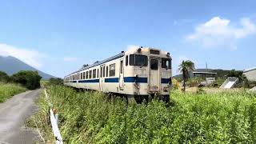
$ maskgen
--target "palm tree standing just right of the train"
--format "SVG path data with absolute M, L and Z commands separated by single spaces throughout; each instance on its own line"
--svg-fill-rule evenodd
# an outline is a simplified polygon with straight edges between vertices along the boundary
M 183 78 L 183 90 L 186 91 L 186 80 L 189 78 L 189 72 L 194 70 L 194 62 L 190 60 L 182 61 L 182 63 L 178 66 L 178 70 L 182 72 Z

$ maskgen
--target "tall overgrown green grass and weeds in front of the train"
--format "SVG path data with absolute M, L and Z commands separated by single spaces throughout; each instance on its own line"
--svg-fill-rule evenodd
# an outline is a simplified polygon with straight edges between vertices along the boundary
M 246 90 L 182 94 L 173 91 L 173 106 L 153 100 L 147 106 L 98 92 L 78 93 L 48 87 L 58 109 L 66 143 L 253 143 L 256 142 L 256 94 Z M 42 96 L 34 116 L 42 135 L 54 142 Z M 31 121 L 32 122 L 32 121 Z

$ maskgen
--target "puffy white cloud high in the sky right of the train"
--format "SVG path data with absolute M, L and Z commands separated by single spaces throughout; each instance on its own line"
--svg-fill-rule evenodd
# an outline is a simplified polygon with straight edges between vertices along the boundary
M 194 34 L 186 36 L 190 42 L 199 42 L 203 47 L 224 46 L 236 49 L 235 42 L 240 38 L 246 38 L 256 34 L 256 25 L 250 18 L 241 18 L 241 26 L 231 26 L 230 20 L 214 17 L 210 21 L 198 25 Z

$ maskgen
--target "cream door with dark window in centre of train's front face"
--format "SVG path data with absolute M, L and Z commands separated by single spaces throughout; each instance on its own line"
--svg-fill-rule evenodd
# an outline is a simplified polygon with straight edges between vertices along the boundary
M 150 58 L 150 91 L 158 92 L 160 90 L 159 84 L 159 59 Z

